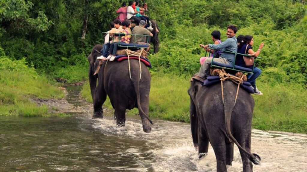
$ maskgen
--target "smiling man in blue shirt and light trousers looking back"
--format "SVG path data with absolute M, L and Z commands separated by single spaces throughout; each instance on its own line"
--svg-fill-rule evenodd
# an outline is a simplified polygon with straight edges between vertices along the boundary
M 200 45 L 200 47 L 211 47 L 216 50 L 226 50 L 236 53 L 238 50 L 238 41 L 235 38 L 235 34 L 237 33 L 237 27 L 234 25 L 227 26 L 227 39 L 220 43 L 220 44 L 208 44 L 208 45 Z M 204 63 L 201 65 L 198 75 L 193 77 L 194 80 L 204 81 L 205 76 L 210 75 L 210 64 L 212 62 L 212 57 L 207 58 Z M 227 53 L 227 52 L 221 52 L 219 58 L 214 58 L 214 62 L 227 64 L 227 65 L 233 65 L 235 62 L 235 54 Z

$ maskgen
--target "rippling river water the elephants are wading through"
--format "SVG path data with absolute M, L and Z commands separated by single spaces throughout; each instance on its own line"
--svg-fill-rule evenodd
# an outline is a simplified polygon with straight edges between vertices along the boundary
M 78 100 L 79 88 L 68 88 L 68 102 Z M 86 109 L 86 108 L 84 108 Z M 0 171 L 216 171 L 210 147 L 199 160 L 189 124 L 153 120 L 151 133 L 142 131 L 139 117 L 116 127 L 111 114 L 91 119 L 91 110 L 70 117 L 0 117 Z M 307 136 L 252 130 L 252 152 L 262 158 L 256 172 L 306 172 Z M 228 171 L 242 171 L 235 146 Z

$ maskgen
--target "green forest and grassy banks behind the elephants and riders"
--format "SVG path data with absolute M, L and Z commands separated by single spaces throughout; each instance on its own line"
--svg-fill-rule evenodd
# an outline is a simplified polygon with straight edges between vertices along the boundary
M 87 80 L 87 55 L 121 0 L 0 0 L 0 115 L 48 116 L 29 98 L 63 98 L 55 78 Z M 305 0 L 146 0 L 160 28 L 153 68 L 150 117 L 189 122 L 189 78 L 204 56 L 200 43 L 211 32 L 226 39 L 228 24 L 238 35 L 261 42 L 253 127 L 307 133 L 307 15 Z M 91 102 L 89 84 L 82 95 Z M 111 107 L 110 103 L 105 103 Z M 129 111 L 128 114 L 137 114 Z

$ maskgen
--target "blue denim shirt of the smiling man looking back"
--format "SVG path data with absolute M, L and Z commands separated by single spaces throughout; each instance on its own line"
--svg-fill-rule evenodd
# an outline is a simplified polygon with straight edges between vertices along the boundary
M 231 37 L 226 39 L 220 44 L 209 44 L 209 47 L 214 48 L 216 50 L 226 50 L 236 53 L 238 50 L 238 41 L 237 38 Z M 232 65 L 235 62 L 235 54 L 227 53 L 227 52 L 221 52 L 220 56 L 222 58 L 226 58 L 227 61 Z

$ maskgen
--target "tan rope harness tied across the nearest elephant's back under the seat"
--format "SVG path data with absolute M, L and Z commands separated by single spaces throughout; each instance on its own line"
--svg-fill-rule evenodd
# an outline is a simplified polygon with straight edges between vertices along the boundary
M 224 88 L 223 88 L 223 82 L 225 80 L 231 80 L 232 82 L 238 84 L 238 87 L 237 87 L 237 93 L 235 95 L 235 103 L 237 102 L 237 98 L 238 98 L 238 94 L 239 94 L 239 88 L 240 88 L 240 84 L 243 84 L 243 77 L 245 75 L 243 75 L 242 73 L 242 76 L 241 78 L 240 77 L 236 77 L 234 75 L 231 75 L 229 73 L 226 73 L 224 69 L 213 69 L 210 71 L 211 75 L 212 76 L 215 76 L 218 74 L 218 76 L 220 77 L 220 80 L 221 80 L 221 88 L 222 88 L 222 100 L 223 100 L 223 104 L 224 104 Z M 241 74 L 239 74 L 241 75 Z

